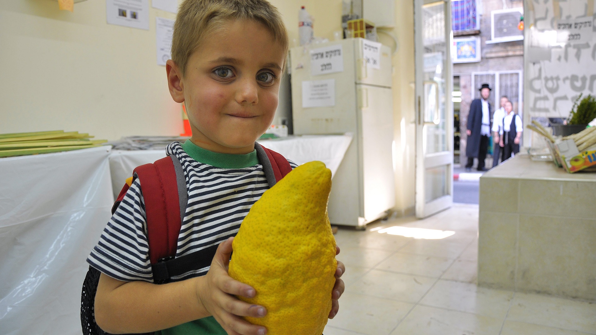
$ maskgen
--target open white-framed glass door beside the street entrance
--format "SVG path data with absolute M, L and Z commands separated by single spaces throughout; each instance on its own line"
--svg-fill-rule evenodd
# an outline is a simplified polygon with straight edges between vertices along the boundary
M 453 202 L 451 1 L 414 0 L 416 216 Z

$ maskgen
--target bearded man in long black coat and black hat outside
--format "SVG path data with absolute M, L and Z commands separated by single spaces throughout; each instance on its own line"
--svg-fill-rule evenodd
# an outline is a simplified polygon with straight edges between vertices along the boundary
M 491 86 L 483 83 L 480 88 L 480 99 L 474 99 L 470 105 L 468 114 L 467 131 L 468 141 L 465 148 L 465 155 L 468 156 L 468 163 L 465 170 L 470 171 L 474 165 L 474 158 L 478 159 L 477 169 L 486 171 L 485 159 L 488 151 L 488 141 L 491 136 L 491 104 L 488 97 L 491 95 Z

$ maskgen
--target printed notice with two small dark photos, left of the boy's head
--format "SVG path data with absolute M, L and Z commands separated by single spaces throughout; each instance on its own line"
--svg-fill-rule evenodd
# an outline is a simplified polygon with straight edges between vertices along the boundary
M 106 0 L 109 24 L 149 30 L 149 0 Z

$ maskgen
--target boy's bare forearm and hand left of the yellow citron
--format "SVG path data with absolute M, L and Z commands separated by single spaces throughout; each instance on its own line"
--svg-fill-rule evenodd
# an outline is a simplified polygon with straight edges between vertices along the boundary
M 256 294 L 249 285 L 228 276 L 232 240 L 219 245 L 209 272 L 202 277 L 156 285 L 101 274 L 95 295 L 95 321 L 112 334 L 148 333 L 213 315 L 228 334 L 265 334 L 265 327 L 241 318 L 263 317 L 265 308 L 232 296 Z

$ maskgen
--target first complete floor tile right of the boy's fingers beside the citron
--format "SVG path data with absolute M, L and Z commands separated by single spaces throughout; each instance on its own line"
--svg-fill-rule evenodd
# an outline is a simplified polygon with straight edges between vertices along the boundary
M 436 278 L 371 270 L 346 291 L 417 303 Z

